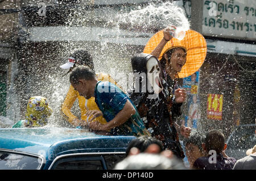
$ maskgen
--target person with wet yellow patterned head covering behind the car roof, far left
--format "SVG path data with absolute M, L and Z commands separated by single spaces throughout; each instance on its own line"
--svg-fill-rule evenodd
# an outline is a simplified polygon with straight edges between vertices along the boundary
M 52 114 L 52 109 L 48 101 L 43 96 L 32 96 L 28 100 L 26 119 L 20 120 L 13 125 L 13 128 L 23 127 L 43 127 L 48 123 L 48 118 Z

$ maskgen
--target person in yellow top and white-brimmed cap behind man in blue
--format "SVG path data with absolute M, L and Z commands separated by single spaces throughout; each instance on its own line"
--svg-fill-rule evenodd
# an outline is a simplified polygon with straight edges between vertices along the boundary
M 60 68 L 68 69 L 68 73 L 70 73 L 77 65 L 88 66 L 94 71 L 93 58 L 87 50 L 79 49 L 71 53 L 68 57 L 68 62 L 61 65 Z M 98 73 L 96 74 L 96 77 L 98 81 L 109 81 L 117 85 L 117 82 L 115 82 L 108 74 Z M 76 99 L 78 99 L 79 102 L 81 119 L 73 115 L 71 112 L 71 108 Z M 85 99 L 84 96 L 79 95 L 79 92 L 77 92 L 72 85 L 69 87 L 68 93 L 63 104 L 61 105 L 61 113 L 63 113 L 65 119 L 67 119 L 69 123 L 75 127 L 79 127 L 85 122 L 87 123 L 90 119 L 93 119 L 93 121 L 98 121 L 101 124 L 105 124 L 106 120 L 103 116 L 95 117 L 99 111 L 100 109 L 98 108 L 94 97 Z

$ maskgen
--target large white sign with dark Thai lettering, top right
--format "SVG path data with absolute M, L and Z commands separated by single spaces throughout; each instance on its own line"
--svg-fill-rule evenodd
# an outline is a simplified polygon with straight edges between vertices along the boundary
M 203 35 L 256 40 L 256 1 L 204 0 Z

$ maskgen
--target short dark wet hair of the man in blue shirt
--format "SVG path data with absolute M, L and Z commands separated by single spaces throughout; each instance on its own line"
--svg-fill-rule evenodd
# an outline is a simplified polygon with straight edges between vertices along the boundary
M 96 78 L 96 74 L 92 69 L 88 68 L 88 66 L 79 65 L 72 70 L 69 76 L 69 81 L 77 85 L 79 79 L 92 80 L 94 78 Z

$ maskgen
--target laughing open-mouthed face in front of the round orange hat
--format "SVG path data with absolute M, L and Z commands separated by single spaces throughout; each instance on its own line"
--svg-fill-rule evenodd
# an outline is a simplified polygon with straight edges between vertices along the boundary
M 167 57 L 167 54 L 164 55 L 169 62 L 171 70 L 175 73 L 180 72 L 186 62 L 187 53 L 183 49 L 177 48 L 172 53 L 171 57 Z

